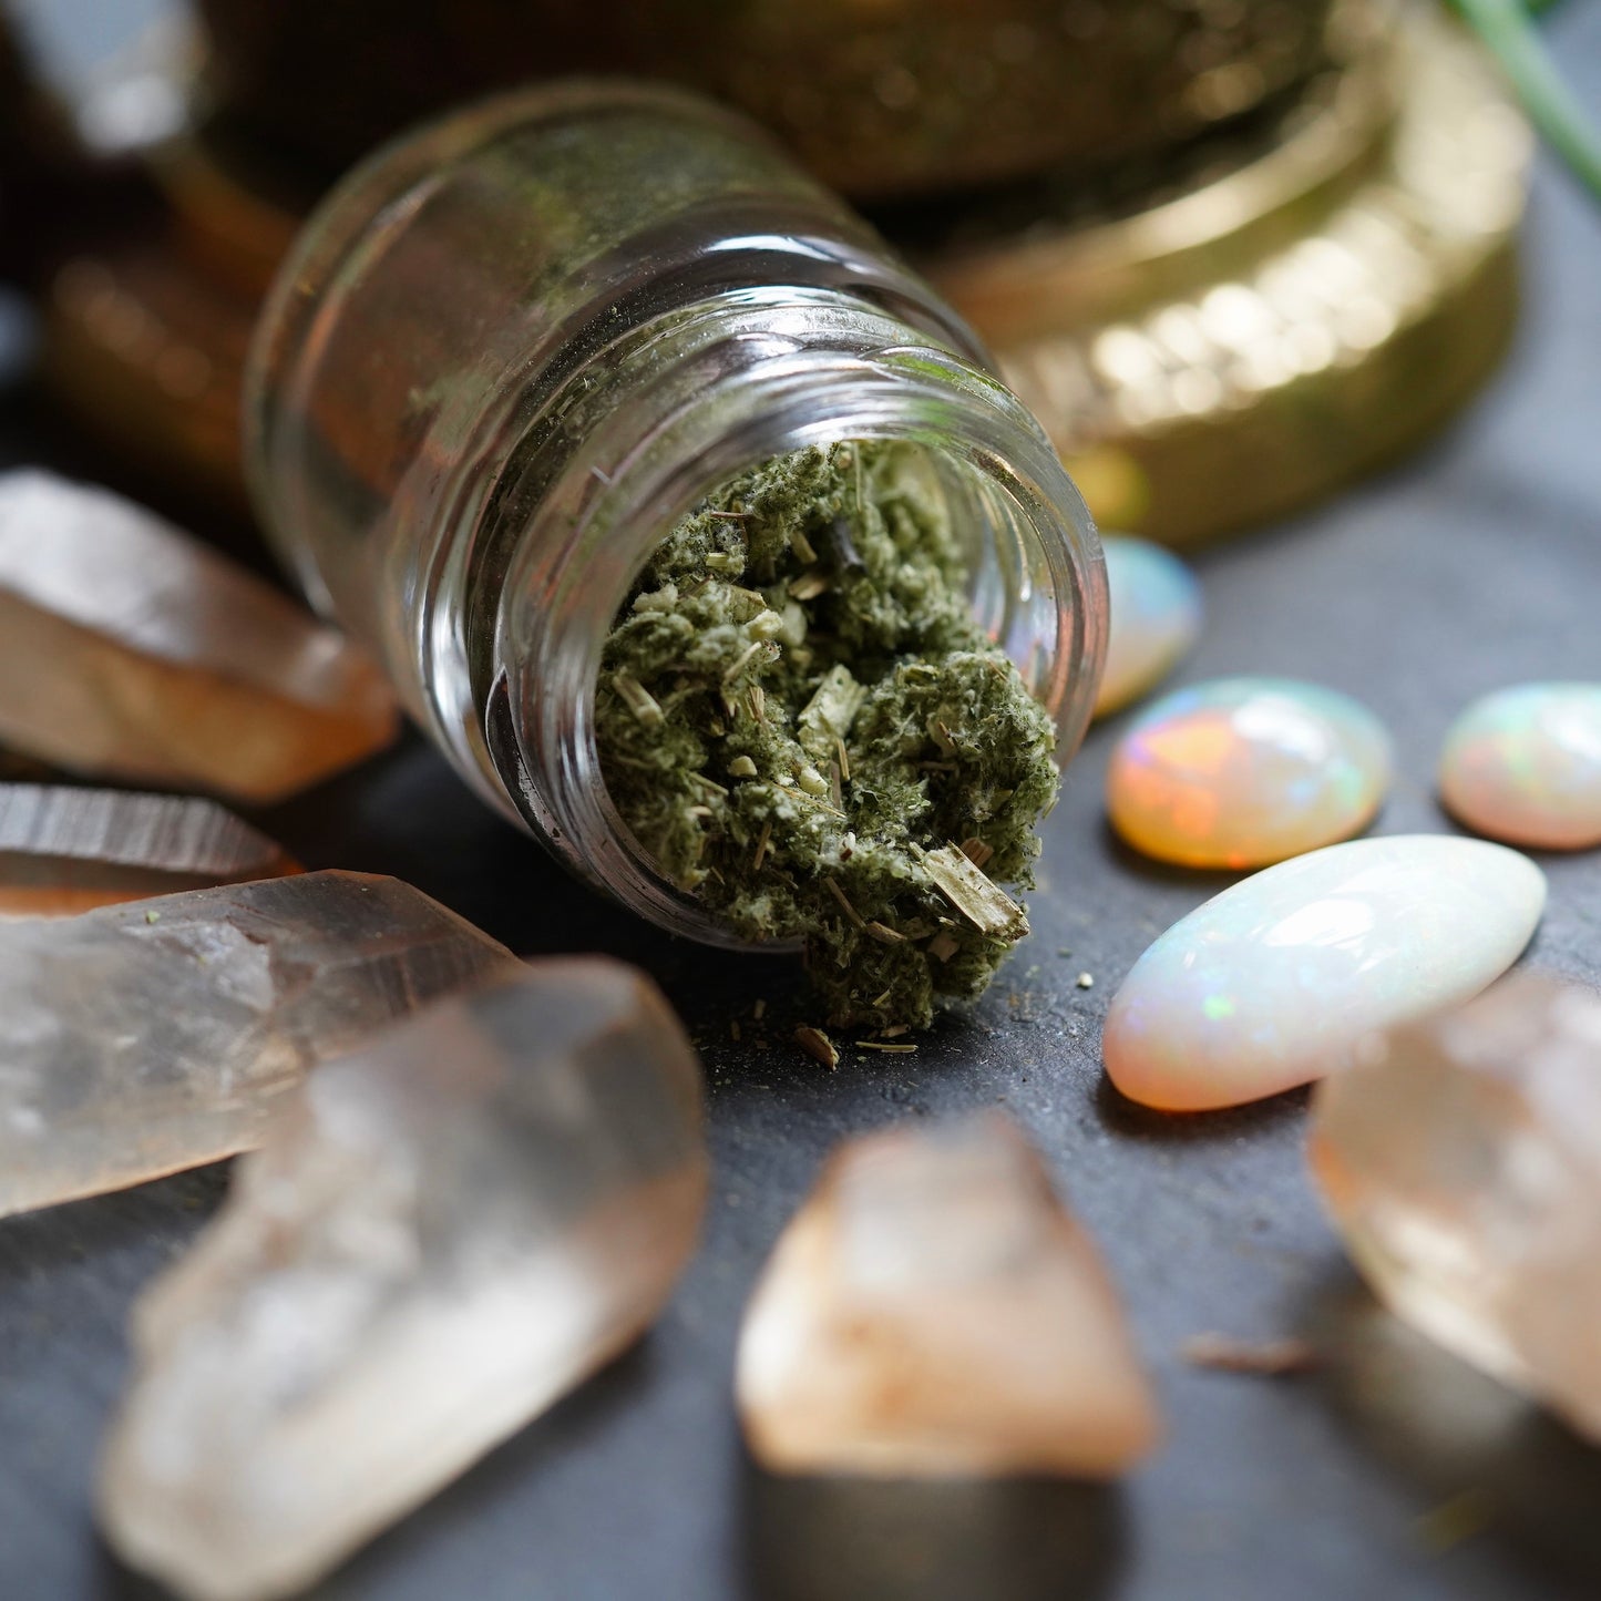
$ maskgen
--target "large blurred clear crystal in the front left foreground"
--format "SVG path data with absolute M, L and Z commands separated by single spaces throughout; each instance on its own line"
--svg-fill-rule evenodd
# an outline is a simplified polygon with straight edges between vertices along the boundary
M 202 1601 L 299 1590 L 658 1314 L 708 1158 L 618 962 L 538 962 L 330 1063 L 139 1302 L 102 1524 Z

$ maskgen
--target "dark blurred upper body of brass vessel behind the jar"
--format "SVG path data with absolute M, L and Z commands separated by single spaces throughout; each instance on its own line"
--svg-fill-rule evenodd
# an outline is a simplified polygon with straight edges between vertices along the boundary
M 331 175 L 485 90 L 664 77 L 857 199 L 1100 170 L 1321 64 L 1330 0 L 200 0 L 219 104 Z

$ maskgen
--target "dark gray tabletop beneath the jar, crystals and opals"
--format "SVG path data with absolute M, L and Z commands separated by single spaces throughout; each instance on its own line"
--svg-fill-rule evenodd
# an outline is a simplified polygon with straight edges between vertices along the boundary
M 1569 61 L 1601 101 L 1601 8 Z M 1601 677 L 1601 221 L 1540 186 L 1510 368 L 1425 456 L 1201 562 L 1209 629 L 1183 679 L 1279 672 L 1358 695 L 1396 738 L 1382 833 L 1443 831 L 1441 735 L 1483 690 Z M 34 402 L 0 459 L 59 453 Z M 1302 1170 L 1305 1097 L 1182 1121 L 1101 1081 L 1098 1029 L 1150 940 L 1223 877 L 1121 852 L 1100 786 L 1117 725 L 1049 825 L 1036 935 L 972 1025 L 823 1073 L 788 1045 L 784 964 L 671 943 L 567 884 L 407 746 L 263 825 L 317 866 L 397 873 L 520 951 L 604 949 L 658 975 L 711 1074 L 704 1249 L 634 1353 L 379 1540 L 341 1601 L 1511 1601 L 1601 1595 L 1601 1455 L 1425 1348 L 1353 1284 Z M 1601 853 L 1543 858 L 1535 965 L 1601 980 Z M 1058 954 L 1071 949 L 1071 956 Z M 1074 988 L 1081 970 L 1095 988 Z M 770 1007 L 770 1044 L 749 1009 Z M 728 1041 L 728 1018 L 746 1039 Z M 730 1402 L 740 1310 L 825 1151 L 893 1117 L 1002 1103 L 1050 1154 L 1124 1286 L 1167 1444 L 1111 1491 L 778 1484 Z M 226 1174 L 0 1223 L 0 1601 L 149 1596 L 93 1532 L 96 1438 L 131 1298 L 194 1238 Z M 1188 1367 L 1201 1330 L 1314 1329 L 1302 1378 Z

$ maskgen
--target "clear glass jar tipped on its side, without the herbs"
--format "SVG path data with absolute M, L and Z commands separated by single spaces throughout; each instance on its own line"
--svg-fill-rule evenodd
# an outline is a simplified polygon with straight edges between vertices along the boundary
M 956 314 L 709 102 L 564 83 L 387 146 L 301 235 L 247 379 L 256 504 L 314 604 L 482 796 L 725 945 L 607 796 L 600 650 L 698 500 L 853 439 L 927 451 L 975 615 L 1066 759 L 1106 631 L 1082 500 Z

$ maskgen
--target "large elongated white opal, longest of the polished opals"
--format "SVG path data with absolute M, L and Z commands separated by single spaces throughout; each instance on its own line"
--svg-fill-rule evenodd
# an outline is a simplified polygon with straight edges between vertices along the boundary
M 1359 839 L 1282 861 L 1134 964 L 1106 1015 L 1106 1073 L 1164 1111 L 1306 1084 L 1377 1029 L 1478 994 L 1543 909 L 1545 874 L 1479 839 Z

